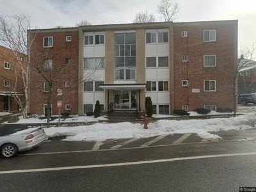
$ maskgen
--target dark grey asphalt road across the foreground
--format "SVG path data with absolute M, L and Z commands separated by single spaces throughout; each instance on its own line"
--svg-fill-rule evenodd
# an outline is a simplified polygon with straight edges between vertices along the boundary
M 58 152 L 0 159 L 1 191 L 239 191 L 256 185 L 255 141 L 97 151 L 69 143 Z

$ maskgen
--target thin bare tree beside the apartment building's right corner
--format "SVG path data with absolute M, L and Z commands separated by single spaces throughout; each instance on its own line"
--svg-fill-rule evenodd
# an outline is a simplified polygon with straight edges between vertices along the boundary
M 252 49 L 246 48 L 242 51 L 241 57 L 238 59 L 237 67 L 235 68 L 234 76 L 233 76 L 233 100 L 234 100 L 234 117 L 236 116 L 236 107 L 237 107 L 237 77 L 239 76 L 239 72 L 245 68 L 248 63 L 252 60 L 255 60 L 255 51 L 256 47 L 254 44 L 252 45 Z

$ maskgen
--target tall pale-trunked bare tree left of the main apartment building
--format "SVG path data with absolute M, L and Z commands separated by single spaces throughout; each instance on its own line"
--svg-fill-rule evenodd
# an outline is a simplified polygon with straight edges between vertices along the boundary
M 25 15 L 15 15 L 15 16 L 0 16 L 0 42 L 9 49 L 12 50 L 17 63 L 19 65 L 19 75 L 22 79 L 23 86 L 23 97 L 17 93 L 17 81 L 16 78 L 15 85 L 12 86 L 12 92 L 10 94 L 17 101 L 22 111 L 22 116 L 28 118 L 28 106 L 29 106 L 29 65 L 31 59 L 27 56 L 31 44 L 34 39 L 31 39 L 29 44 L 27 41 L 27 31 L 30 29 L 30 19 Z M 17 70 L 15 70 L 17 73 Z M 16 76 L 17 77 L 17 76 Z

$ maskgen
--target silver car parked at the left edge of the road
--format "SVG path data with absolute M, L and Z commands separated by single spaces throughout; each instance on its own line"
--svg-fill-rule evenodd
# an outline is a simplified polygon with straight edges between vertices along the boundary
M 28 128 L 26 125 L 0 125 L 0 154 L 13 157 L 18 152 L 40 145 L 47 136 L 42 128 Z

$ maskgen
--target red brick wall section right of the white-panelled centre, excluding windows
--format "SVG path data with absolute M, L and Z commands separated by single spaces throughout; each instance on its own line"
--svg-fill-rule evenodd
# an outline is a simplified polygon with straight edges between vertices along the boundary
M 204 42 L 204 30 L 216 29 L 216 42 Z M 188 104 L 189 111 L 204 108 L 233 108 L 232 79 L 234 74 L 235 31 L 233 24 L 214 26 L 175 26 L 174 41 L 174 108 Z M 188 31 L 182 38 L 181 31 Z M 204 55 L 216 54 L 216 67 L 204 67 Z M 181 56 L 187 55 L 188 62 L 182 63 Z M 188 87 L 182 87 L 182 79 Z M 216 92 L 204 92 L 204 80 L 216 80 Z M 200 93 L 192 93 L 192 89 Z

